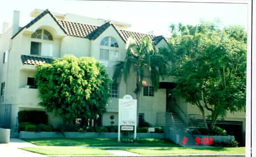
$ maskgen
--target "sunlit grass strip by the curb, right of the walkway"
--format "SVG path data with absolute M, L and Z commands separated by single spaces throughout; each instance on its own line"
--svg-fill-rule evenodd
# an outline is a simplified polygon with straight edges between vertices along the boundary
M 141 155 L 163 155 L 163 154 L 245 154 L 245 147 L 216 147 L 216 148 L 127 148 L 126 151 Z

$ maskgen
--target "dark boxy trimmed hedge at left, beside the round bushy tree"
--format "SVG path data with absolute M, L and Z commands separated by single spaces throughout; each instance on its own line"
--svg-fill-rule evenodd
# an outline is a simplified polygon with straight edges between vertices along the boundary
M 19 111 L 18 121 L 19 123 L 30 122 L 32 124 L 47 124 L 48 116 L 45 111 Z

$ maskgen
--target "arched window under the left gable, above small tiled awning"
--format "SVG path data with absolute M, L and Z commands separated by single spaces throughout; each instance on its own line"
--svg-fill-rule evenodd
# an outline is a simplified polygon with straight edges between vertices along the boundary
M 31 35 L 30 54 L 52 57 L 52 34 L 38 29 Z

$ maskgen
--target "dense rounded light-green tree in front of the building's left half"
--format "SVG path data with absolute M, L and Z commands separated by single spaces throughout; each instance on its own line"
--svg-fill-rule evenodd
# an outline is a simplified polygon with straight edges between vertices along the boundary
M 39 105 L 68 123 L 76 118 L 94 119 L 106 111 L 111 79 L 93 58 L 69 55 L 38 65 L 35 79 L 42 99 Z

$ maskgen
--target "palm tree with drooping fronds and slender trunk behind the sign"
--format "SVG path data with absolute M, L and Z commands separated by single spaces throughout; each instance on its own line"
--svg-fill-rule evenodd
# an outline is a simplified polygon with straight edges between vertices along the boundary
M 131 68 L 133 68 L 136 73 L 136 89 L 134 92 L 137 99 L 138 122 L 139 98 L 144 75 L 150 75 L 154 90 L 157 91 L 160 77 L 164 78 L 167 74 L 168 63 L 153 45 L 152 40 L 147 36 L 143 37 L 139 44 L 136 44 L 135 37 L 129 38 L 126 49 L 125 61 L 119 61 L 119 63 L 115 65 L 113 80 L 114 82 L 120 82 L 121 78 L 124 77 L 126 81 Z

